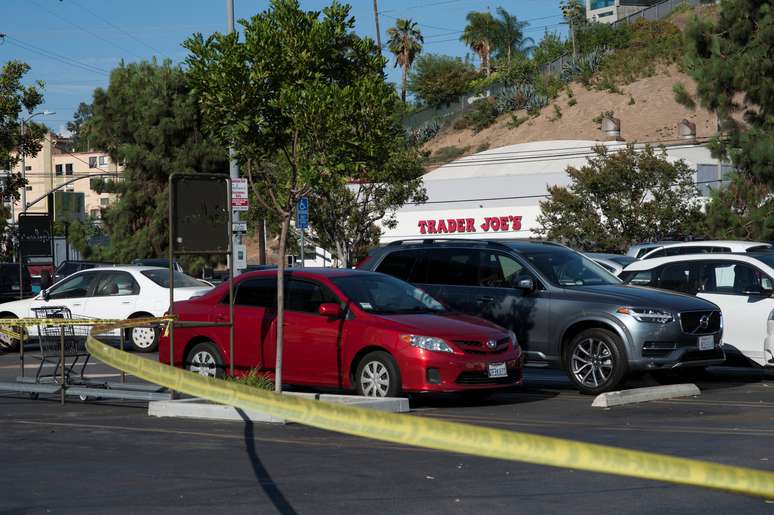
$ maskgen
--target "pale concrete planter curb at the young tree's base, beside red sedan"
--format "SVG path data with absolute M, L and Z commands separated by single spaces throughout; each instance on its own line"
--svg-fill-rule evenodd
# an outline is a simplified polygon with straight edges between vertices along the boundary
M 368 408 L 390 413 L 406 413 L 410 411 L 409 401 L 403 397 L 361 397 L 358 395 L 333 395 L 286 392 L 285 395 L 303 397 L 310 400 L 346 404 L 358 408 Z M 152 417 L 196 418 L 204 420 L 232 420 L 264 422 L 270 424 L 285 424 L 286 420 L 272 417 L 266 413 L 253 410 L 241 410 L 233 406 L 214 404 L 203 399 L 176 399 L 171 401 L 153 401 L 148 403 L 148 415 Z

